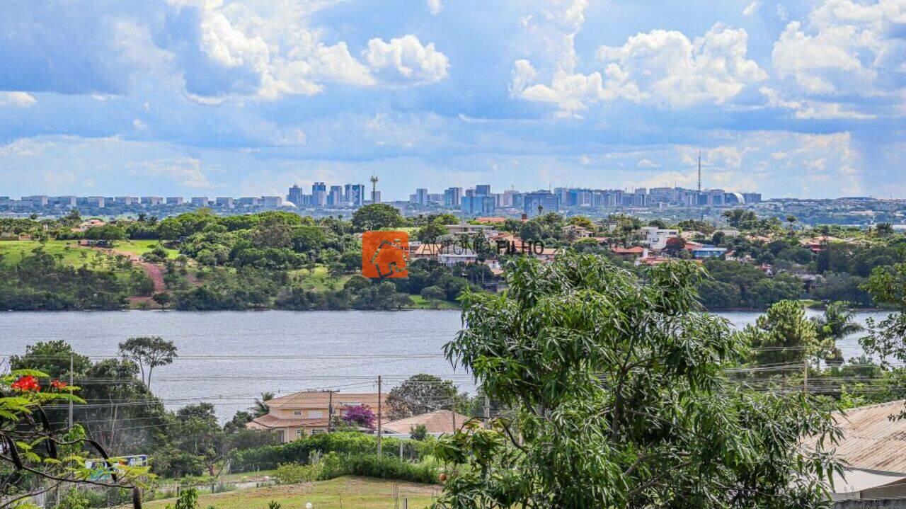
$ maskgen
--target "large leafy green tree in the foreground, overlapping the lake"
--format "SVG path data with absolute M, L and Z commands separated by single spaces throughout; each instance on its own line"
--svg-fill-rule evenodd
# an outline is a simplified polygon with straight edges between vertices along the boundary
M 825 504 L 839 437 L 807 394 L 742 393 L 744 343 L 700 313 L 701 269 L 647 282 L 594 255 L 516 260 L 506 294 L 466 293 L 445 351 L 512 419 L 441 437 L 440 507 L 805 508 Z M 835 433 L 835 434 L 834 434 Z M 826 435 L 824 435 L 826 434 Z M 800 437 L 818 436 L 800 447 Z

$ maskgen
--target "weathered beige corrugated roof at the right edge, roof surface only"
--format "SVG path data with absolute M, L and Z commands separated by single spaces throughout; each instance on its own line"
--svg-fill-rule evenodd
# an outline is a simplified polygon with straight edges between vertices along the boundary
M 844 433 L 836 456 L 853 468 L 906 475 L 906 419 L 891 419 L 903 404 L 898 399 L 835 414 Z

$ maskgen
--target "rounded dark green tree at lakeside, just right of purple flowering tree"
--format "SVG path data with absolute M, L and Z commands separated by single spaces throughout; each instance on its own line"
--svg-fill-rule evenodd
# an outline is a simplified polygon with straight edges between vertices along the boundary
M 460 399 L 453 382 L 419 373 L 390 389 L 387 407 L 391 419 L 408 418 L 435 410 L 451 410 Z

